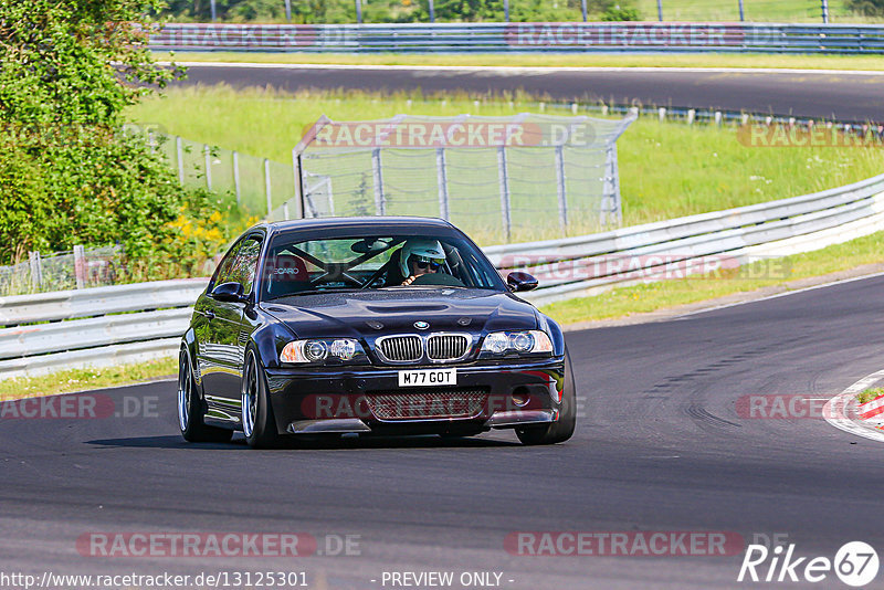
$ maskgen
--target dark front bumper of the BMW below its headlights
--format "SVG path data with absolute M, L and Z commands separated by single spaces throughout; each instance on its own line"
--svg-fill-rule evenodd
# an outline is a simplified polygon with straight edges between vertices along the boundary
M 400 369 L 428 368 L 456 368 L 456 386 L 399 387 Z M 436 367 L 283 368 L 266 373 L 280 433 L 470 432 L 558 420 L 565 361 L 559 357 Z M 383 412 L 379 400 L 387 404 Z M 408 400 L 407 409 L 397 413 L 399 400 Z

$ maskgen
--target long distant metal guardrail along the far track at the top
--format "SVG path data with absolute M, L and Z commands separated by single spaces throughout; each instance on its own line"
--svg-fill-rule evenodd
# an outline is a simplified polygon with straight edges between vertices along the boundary
M 149 34 L 156 51 L 882 53 L 884 25 L 702 22 L 182 24 Z

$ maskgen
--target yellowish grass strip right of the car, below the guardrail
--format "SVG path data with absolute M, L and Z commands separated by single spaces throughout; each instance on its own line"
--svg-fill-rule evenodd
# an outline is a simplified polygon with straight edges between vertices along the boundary
M 846 271 L 884 261 L 884 232 L 807 252 L 755 263 L 738 270 L 696 277 L 661 281 L 615 288 L 594 297 L 558 302 L 540 308 L 560 324 L 628 317 L 697 303 L 735 293 L 749 293 L 767 286 L 790 288 L 793 281 Z

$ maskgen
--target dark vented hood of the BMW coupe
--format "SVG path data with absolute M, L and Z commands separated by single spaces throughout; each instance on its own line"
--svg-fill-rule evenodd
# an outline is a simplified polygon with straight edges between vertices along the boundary
M 465 288 L 392 288 L 274 299 L 262 307 L 297 338 L 365 337 L 427 331 L 535 329 L 535 308 L 509 293 Z

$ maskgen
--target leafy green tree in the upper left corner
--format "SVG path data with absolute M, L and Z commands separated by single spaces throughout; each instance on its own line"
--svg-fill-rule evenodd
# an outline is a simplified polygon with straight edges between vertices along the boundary
M 0 2 L 0 263 L 120 242 L 147 255 L 187 197 L 124 109 L 180 75 L 146 44 L 150 0 Z

